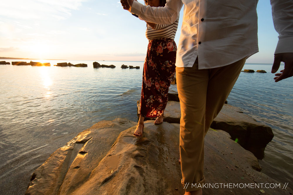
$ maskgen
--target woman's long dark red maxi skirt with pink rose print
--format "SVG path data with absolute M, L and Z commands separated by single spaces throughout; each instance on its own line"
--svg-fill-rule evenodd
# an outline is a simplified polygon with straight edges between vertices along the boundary
M 176 71 L 176 51 L 173 39 L 154 39 L 149 42 L 142 75 L 141 116 L 154 118 L 163 114 Z

